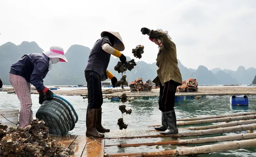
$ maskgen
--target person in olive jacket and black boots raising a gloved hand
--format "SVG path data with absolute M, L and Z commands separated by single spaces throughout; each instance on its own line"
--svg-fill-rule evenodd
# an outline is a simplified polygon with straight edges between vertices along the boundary
M 161 134 L 177 134 L 176 115 L 174 110 L 175 93 L 177 86 L 182 85 L 182 75 L 178 68 L 176 45 L 168 35 L 168 31 L 162 29 L 149 30 L 141 28 L 142 34 L 147 34 L 149 39 L 158 45 L 156 65 L 157 77 L 154 83 L 160 85 L 159 110 L 162 111 L 162 126 L 155 127 L 163 131 Z

